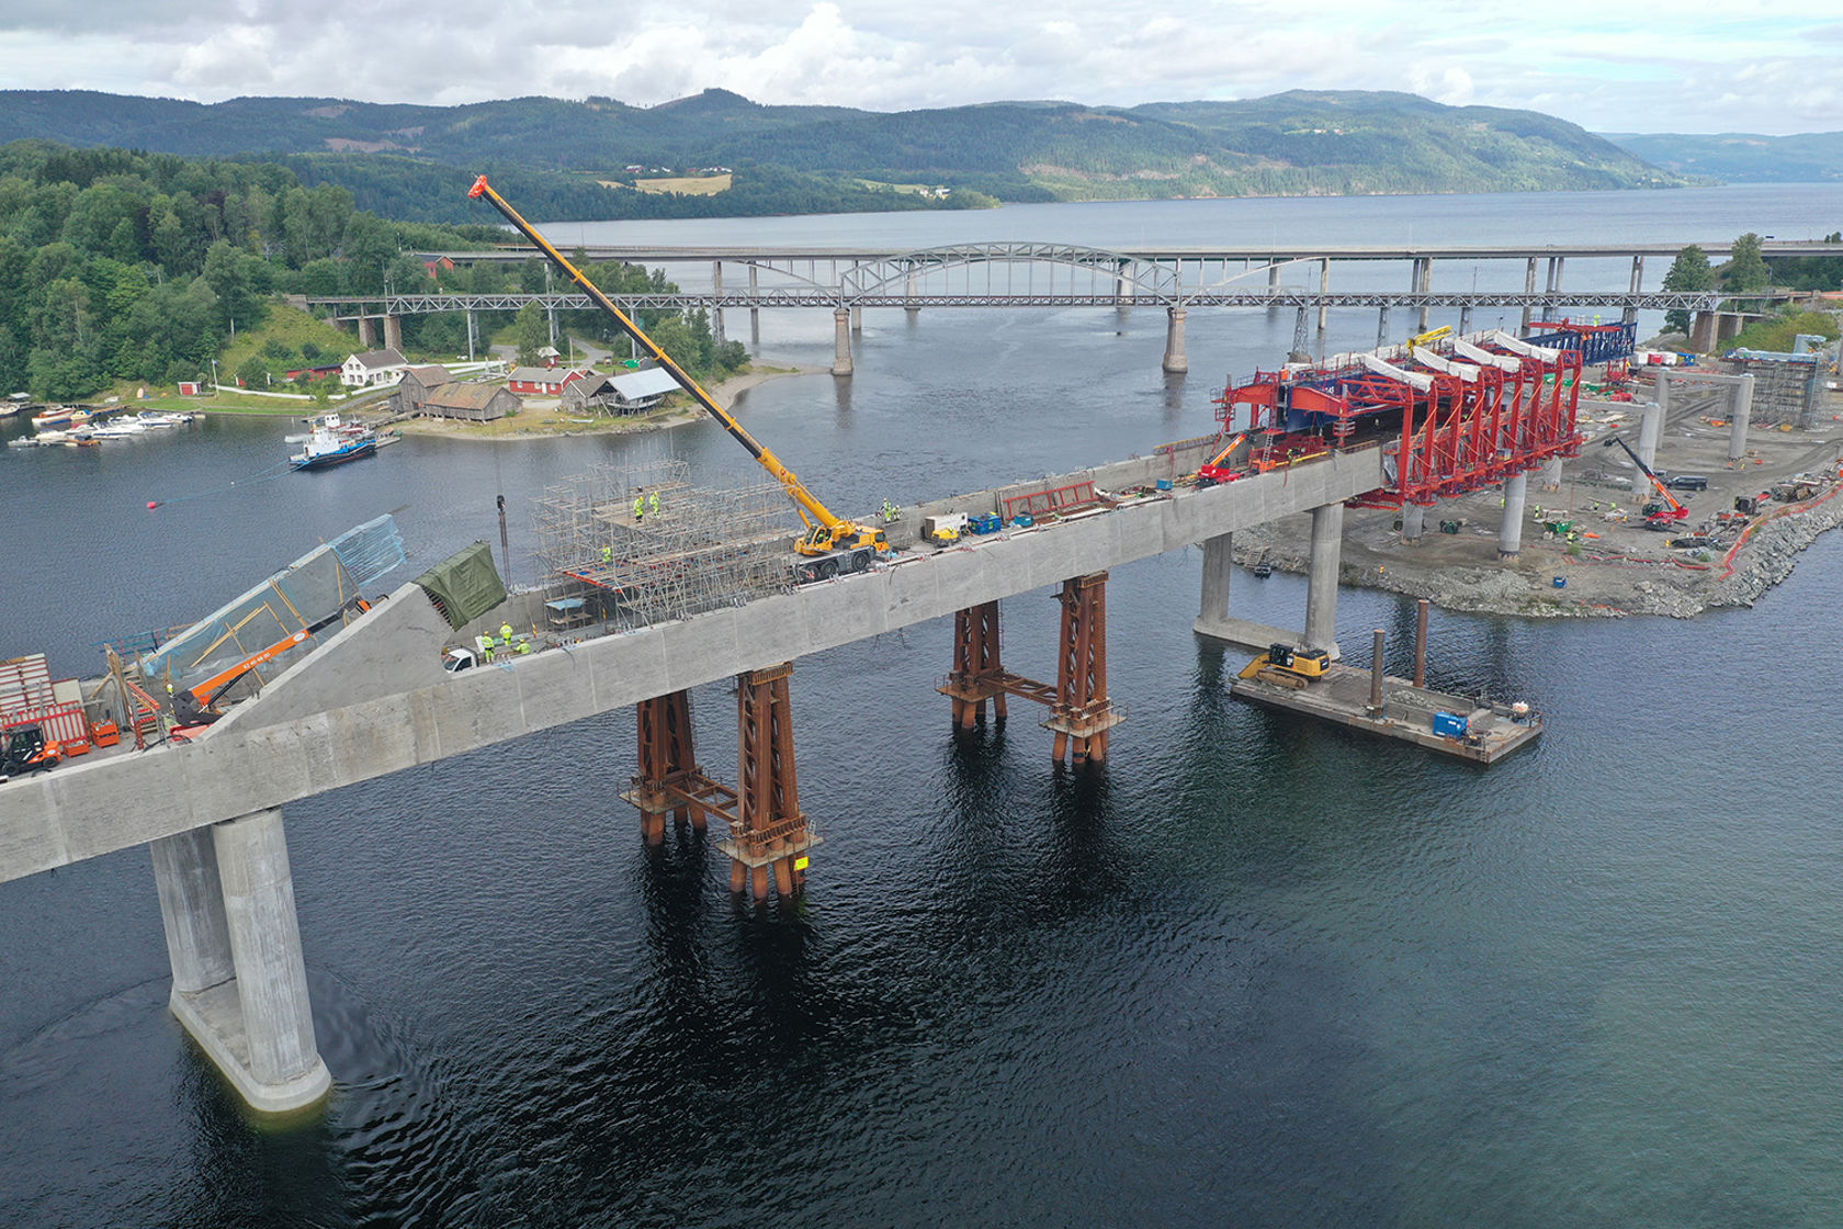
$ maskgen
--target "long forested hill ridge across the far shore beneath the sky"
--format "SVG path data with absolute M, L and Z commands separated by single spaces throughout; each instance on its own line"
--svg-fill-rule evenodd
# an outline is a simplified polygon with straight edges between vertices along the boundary
M 525 177 L 555 217 L 940 208 L 1051 199 L 1640 188 L 1683 182 L 1532 111 L 1414 94 L 1288 92 L 1248 101 L 988 103 L 874 112 L 763 107 L 706 90 L 658 107 L 518 98 L 461 107 L 238 98 L 203 105 L 81 90 L 0 92 L 0 142 L 44 138 L 184 155 L 291 155 L 365 208 L 459 219 L 468 171 Z M 628 166 L 734 168 L 732 193 L 610 192 Z M 868 181 L 868 182 L 866 182 Z M 464 181 L 463 181 L 464 182 Z M 890 184 L 890 186 L 885 186 Z M 918 195 L 912 186 L 953 192 Z M 536 199 L 534 199 L 536 197 Z M 905 199 L 892 199 L 905 197 Z

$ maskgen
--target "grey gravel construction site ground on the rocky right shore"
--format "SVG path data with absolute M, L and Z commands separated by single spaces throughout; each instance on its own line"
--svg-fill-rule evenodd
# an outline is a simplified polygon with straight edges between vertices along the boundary
M 1530 475 L 1522 549 L 1515 558 L 1498 558 L 1502 492 L 1493 486 L 1426 509 L 1425 533 L 1412 544 L 1401 536 L 1401 512 L 1349 509 L 1342 582 L 1426 597 L 1447 610 L 1690 617 L 1714 606 L 1751 604 L 1791 573 L 1799 551 L 1819 533 L 1843 523 L 1843 486 L 1836 481 L 1843 457 L 1843 420 L 1837 418 L 1843 404 L 1836 392 L 1825 394 L 1828 400 L 1808 429 L 1755 424 L 1747 433 L 1747 457 L 1731 466 L 1729 427 L 1716 426 L 1725 418 L 1727 394 L 1677 389 L 1655 468 L 1664 475 L 1705 475 L 1708 488 L 1673 492 L 1690 512 L 1681 529 L 1646 529 L 1638 509 L 1653 497 L 1649 483 L 1622 450 L 1603 446 L 1611 433 L 1637 444 L 1638 411 L 1651 400 L 1651 385 L 1638 383 L 1635 392 L 1637 404 L 1581 400 L 1579 426 L 1587 444 L 1578 459 L 1565 462 L 1559 488 L 1546 490 L 1541 474 Z M 1734 510 L 1736 496 L 1769 492 L 1795 475 L 1817 479 L 1812 497 L 1773 499 L 1753 518 L 1718 520 Z M 1627 486 L 1618 486 L 1618 479 Z M 1572 520 L 1579 540 L 1548 534 L 1544 521 L 1554 520 Z M 1460 521 L 1458 533 L 1441 533 L 1441 521 Z M 1668 545 L 1692 534 L 1705 534 L 1712 544 Z M 1303 573 L 1309 540 L 1310 520 L 1286 518 L 1235 534 L 1235 560 Z

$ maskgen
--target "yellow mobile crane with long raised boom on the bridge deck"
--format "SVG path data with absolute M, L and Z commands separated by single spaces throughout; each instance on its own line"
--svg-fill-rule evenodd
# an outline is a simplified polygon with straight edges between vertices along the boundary
M 494 192 L 485 175 L 474 181 L 468 195 L 487 197 L 496 210 L 505 214 L 505 219 L 512 223 L 520 234 L 531 240 L 540 252 L 549 256 L 558 269 L 569 275 L 569 280 L 575 282 L 584 295 L 595 300 L 595 306 L 614 317 L 614 321 L 621 326 L 621 332 L 651 354 L 652 359 L 665 369 L 675 381 L 678 381 L 678 387 L 689 392 L 697 404 L 704 407 L 704 413 L 721 422 L 722 429 L 734 435 L 743 448 L 748 450 L 748 455 L 759 461 L 761 468 L 774 475 L 774 481 L 781 485 L 787 496 L 800 509 L 800 520 L 805 523 L 805 533 L 794 542 L 794 551 L 802 556 L 794 564 L 794 575 L 800 580 L 826 580 L 840 571 L 864 571 L 870 568 L 870 560 L 874 556 L 888 553 L 890 542 L 881 529 L 875 525 L 848 521 L 820 503 L 818 497 L 805 488 L 805 483 L 802 483 L 792 470 L 781 464 L 780 457 L 763 448 L 754 435 L 745 431 L 743 424 L 732 418 L 722 405 L 719 405 L 711 394 L 686 372 L 686 369 L 678 367 L 673 356 L 660 350 L 660 346 L 652 341 L 652 337 L 647 337 L 640 324 L 614 306 L 614 300 L 608 298 L 599 286 L 590 282 L 582 271 L 564 260 L 564 254 L 551 247 L 549 240 L 538 234 L 538 230 L 525 221 L 523 216 L 505 201 L 505 197 Z

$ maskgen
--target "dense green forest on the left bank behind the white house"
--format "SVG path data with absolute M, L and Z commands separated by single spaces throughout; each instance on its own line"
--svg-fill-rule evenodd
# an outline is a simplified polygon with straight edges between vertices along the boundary
M 475 203 L 477 206 L 477 203 Z M 475 208 L 477 216 L 479 208 Z M 118 383 L 171 387 L 197 380 L 227 343 L 260 330 L 276 295 L 374 295 L 429 286 L 418 251 L 485 249 L 496 225 L 385 221 L 332 182 L 304 186 L 288 166 L 247 158 L 181 158 L 48 142 L 0 146 L 0 391 L 76 400 Z M 612 293 L 676 289 L 663 275 L 593 265 Z M 536 260 L 483 262 L 440 275 L 440 287 L 542 291 Z M 487 332 L 511 313 L 481 313 Z M 582 337 L 612 341 L 597 311 L 564 313 Z M 662 345 L 697 370 L 734 369 L 739 345 L 717 348 L 698 313 L 647 313 Z M 466 350 L 459 313 L 407 317 L 407 350 Z M 343 354 L 271 339 L 232 374 L 256 385 Z

